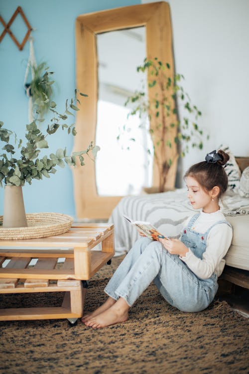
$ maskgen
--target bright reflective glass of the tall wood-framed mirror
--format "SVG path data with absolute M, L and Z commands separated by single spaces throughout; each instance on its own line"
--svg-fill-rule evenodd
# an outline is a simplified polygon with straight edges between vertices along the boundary
M 111 31 L 97 35 L 98 112 L 96 144 L 96 185 L 101 196 L 138 194 L 152 183 L 151 141 L 144 126 L 148 123 L 127 115 L 128 96 L 141 87 L 136 67 L 146 56 L 145 27 Z M 118 141 L 124 125 L 132 128 Z M 124 135 L 124 134 L 123 134 Z M 135 141 L 130 140 L 135 139 Z

